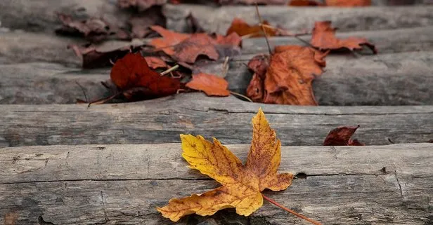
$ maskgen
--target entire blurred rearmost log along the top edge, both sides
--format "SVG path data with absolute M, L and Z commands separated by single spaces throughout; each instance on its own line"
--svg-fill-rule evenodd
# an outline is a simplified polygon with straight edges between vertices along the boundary
M 60 22 L 55 12 L 70 13 L 77 18 L 103 16 L 108 22 L 124 25 L 130 12 L 119 10 L 117 1 L 70 0 L 70 1 L 16 1 L 0 2 L 0 21 L 4 27 L 25 29 L 32 32 L 52 32 Z M 363 8 L 317 8 L 260 6 L 265 20 L 273 25 L 299 30 L 310 29 L 316 20 L 332 20 L 342 30 L 389 29 L 433 25 L 433 6 L 377 6 Z M 189 13 L 209 32 L 225 33 L 235 16 L 247 22 L 257 23 L 254 6 L 170 5 L 164 6 L 167 25 L 171 29 L 183 30 Z

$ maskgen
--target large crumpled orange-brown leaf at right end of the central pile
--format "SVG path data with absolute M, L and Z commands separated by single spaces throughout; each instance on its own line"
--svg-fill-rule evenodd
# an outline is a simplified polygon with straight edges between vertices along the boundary
M 280 46 L 271 55 L 266 74 L 261 75 L 266 60 L 253 58 L 255 74 L 247 88 L 247 96 L 255 102 L 271 104 L 317 105 L 312 81 L 322 74 L 328 53 L 303 46 Z M 254 70 L 254 69 L 253 69 Z M 257 71 L 261 71 L 257 73 Z M 263 79 L 264 77 L 264 79 Z

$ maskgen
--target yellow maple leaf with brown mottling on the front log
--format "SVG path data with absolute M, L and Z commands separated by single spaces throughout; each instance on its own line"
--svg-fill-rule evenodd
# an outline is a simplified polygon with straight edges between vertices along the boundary
M 252 118 L 252 127 L 252 143 L 245 165 L 215 138 L 212 143 L 200 135 L 181 135 L 182 156 L 189 167 L 222 186 L 199 195 L 173 198 L 168 205 L 157 207 L 162 216 L 178 221 L 187 214 L 207 216 L 228 207 L 235 207 L 238 214 L 248 216 L 263 205 L 261 191 L 287 189 L 293 175 L 277 174 L 281 143 L 261 109 Z

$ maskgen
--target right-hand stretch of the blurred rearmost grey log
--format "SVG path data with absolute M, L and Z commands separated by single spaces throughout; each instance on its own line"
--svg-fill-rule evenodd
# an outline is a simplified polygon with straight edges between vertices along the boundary
M 331 20 L 340 31 L 397 29 L 433 25 L 433 6 L 377 6 L 355 8 L 332 7 L 259 7 L 263 20 L 292 31 L 314 27 L 315 21 Z M 167 5 L 167 27 L 177 31 L 186 29 L 186 16 L 192 13 L 198 23 L 208 32 L 225 34 L 233 18 L 243 18 L 250 24 L 259 21 L 254 6 L 226 6 L 215 9 L 197 5 Z

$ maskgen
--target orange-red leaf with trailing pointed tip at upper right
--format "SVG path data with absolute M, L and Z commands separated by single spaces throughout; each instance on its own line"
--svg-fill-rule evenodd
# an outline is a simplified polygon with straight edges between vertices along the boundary
M 377 53 L 377 49 L 373 43 L 364 38 L 349 37 L 347 39 L 337 39 L 335 36 L 335 28 L 331 27 L 330 21 L 321 21 L 314 23 L 313 35 L 311 36 L 311 45 L 319 49 L 337 50 L 347 48 L 349 50 L 361 50 L 363 46 L 367 46 L 373 53 Z

